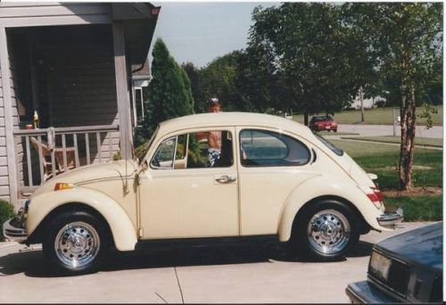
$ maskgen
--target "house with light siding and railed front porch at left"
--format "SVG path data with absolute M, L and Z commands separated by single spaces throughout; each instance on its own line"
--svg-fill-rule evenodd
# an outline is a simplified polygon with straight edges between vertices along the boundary
M 116 152 L 132 158 L 159 12 L 147 3 L 0 3 L 1 199 L 17 207 L 57 173 Z

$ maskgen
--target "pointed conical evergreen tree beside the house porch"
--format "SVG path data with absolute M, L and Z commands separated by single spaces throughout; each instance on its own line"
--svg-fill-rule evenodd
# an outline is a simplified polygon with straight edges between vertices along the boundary
M 161 38 L 153 45 L 152 81 L 147 88 L 145 118 L 141 128 L 136 128 L 135 145 L 144 144 L 158 124 L 194 113 L 191 84 L 183 70 Z

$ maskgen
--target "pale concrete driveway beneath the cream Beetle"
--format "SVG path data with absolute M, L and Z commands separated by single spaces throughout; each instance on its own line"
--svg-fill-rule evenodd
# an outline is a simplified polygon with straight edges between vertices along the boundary
M 364 235 L 338 262 L 303 262 L 259 247 L 116 253 L 100 272 L 67 277 L 48 273 L 42 251 L 0 243 L 0 302 L 348 302 L 344 289 L 366 278 L 372 244 L 426 224 Z

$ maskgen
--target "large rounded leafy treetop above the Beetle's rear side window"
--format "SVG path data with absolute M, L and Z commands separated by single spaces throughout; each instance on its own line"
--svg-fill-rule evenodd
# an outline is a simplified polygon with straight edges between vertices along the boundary
M 340 111 L 365 83 L 357 67 L 367 58 L 355 49 L 358 39 L 343 25 L 337 6 L 258 7 L 252 20 L 248 52 L 257 54 L 260 69 L 279 85 L 281 103 L 307 115 Z

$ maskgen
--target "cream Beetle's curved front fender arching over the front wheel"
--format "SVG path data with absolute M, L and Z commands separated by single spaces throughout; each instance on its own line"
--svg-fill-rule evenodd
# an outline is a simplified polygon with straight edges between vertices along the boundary
M 102 215 L 111 229 L 113 242 L 118 250 L 135 250 L 136 227 L 126 211 L 109 196 L 86 187 L 48 192 L 33 197 L 27 218 L 28 235 L 31 235 L 54 209 L 73 202 L 85 204 Z

